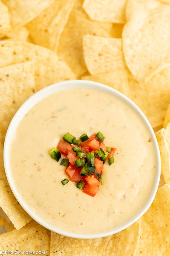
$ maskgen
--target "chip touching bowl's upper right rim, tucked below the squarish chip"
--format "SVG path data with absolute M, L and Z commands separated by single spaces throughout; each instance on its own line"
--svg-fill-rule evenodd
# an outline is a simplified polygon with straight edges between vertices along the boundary
M 115 71 L 105 74 L 97 74 L 93 76 L 82 76 L 81 79 L 90 80 L 106 84 L 119 92 L 122 92 L 126 96 L 129 96 L 129 83 L 126 72 Z

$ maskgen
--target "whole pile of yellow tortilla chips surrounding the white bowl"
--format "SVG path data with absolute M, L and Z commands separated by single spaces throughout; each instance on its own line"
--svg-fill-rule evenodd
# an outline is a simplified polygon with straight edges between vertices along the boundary
M 27 98 L 55 82 L 104 83 L 145 113 L 161 153 L 163 185 L 143 217 L 105 238 L 73 239 L 37 224 L 3 166 L 8 125 Z M 45 255 L 170 255 L 170 1 L 0 1 L 0 251 Z M 168 107 L 169 106 L 169 107 Z

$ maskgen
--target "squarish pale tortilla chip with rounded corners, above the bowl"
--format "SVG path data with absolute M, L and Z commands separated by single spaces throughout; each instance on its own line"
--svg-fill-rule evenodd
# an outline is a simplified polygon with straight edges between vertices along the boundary
M 83 37 L 84 60 L 91 75 L 125 70 L 121 38 Z

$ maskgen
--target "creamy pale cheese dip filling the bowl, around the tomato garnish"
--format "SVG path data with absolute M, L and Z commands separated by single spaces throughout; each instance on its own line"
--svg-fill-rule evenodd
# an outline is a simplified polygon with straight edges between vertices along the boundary
M 101 131 L 106 146 L 117 148 L 103 169 L 95 197 L 76 183 L 66 185 L 65 166 L 51 158 L 67 132 L 79 138 Z M 80 234 L 111 230 L 146 203 L 156 175 L 150 133 L 127 104 L 104 92 L 70 89 L 43 99 L 20 122 L 11 145 L 12 177 L 31 211 L 58 229 Z

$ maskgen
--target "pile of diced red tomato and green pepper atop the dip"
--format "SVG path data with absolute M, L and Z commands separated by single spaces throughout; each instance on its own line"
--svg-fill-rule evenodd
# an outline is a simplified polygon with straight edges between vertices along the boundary
M 114 163 L 114 152 L 116 148 L 106 147 L 103 142 L 105 137 L 101 132 L 88 137 L 85 133 L 80 136 L 81 143 L 70 133 L 63 136 L 57 148 L 50 149 L 50 155 L 57 162 L 61 154 L 67 156 L 61 160 L 61 165 L 67 166 L 65 173 L 70 180 L 77 183 L 77 187 L 92 197 L 99 189 L 100 183 L 103 183 L 102 170 L 106 160 L 109 165 Z M 77 146 L 72 146 L 75 144 Z M 67 184 L 69 179 L 61 181 L 63 185 Z

